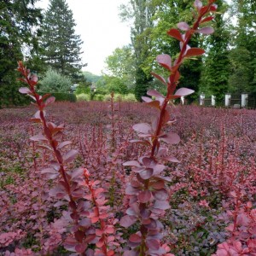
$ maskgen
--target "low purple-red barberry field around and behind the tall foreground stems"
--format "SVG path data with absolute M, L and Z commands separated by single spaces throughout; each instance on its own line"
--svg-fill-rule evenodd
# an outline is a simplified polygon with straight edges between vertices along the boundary
M 56 180 L 49 178 L 57 175 L 41 172 L 52 155 L 29 140 L 41 130 L 29 121 L 35 110 L 0 110 L 0 254 L 70 255 L 70 247 L 62 246 L 71 232 L 67 203 L 53 193 Z M 128 207 L 127 183 L 134 176 L 122 164 L 137 160 L 146 149 L 130 142 L 137 139 L 132 125 L 150 123 L 154 111 L 130 102 L 56 102 L 47 109 L 49 121 L 65 124 L 61 141 L 72 141 L 67 148 L 79 151 L 69 166 L 87 168 L 90 181 L 98 181 L 95 189 L 104 189 L 98 193 L 108 200 L 108 247 L 116 255 L 137 230 L 136 224 L 127 229 L 119 225 Z M 256 112 L 171 105 L 168 112 L 177 122 L 166 129 L 177 132 L 181 141 L 168 146 L 172 162 L 164 171 L 170 178 L 171 206 L 161 219 L 166 252 L 255 255 Z M 90 247 L 95 247 L 93 241 Z

